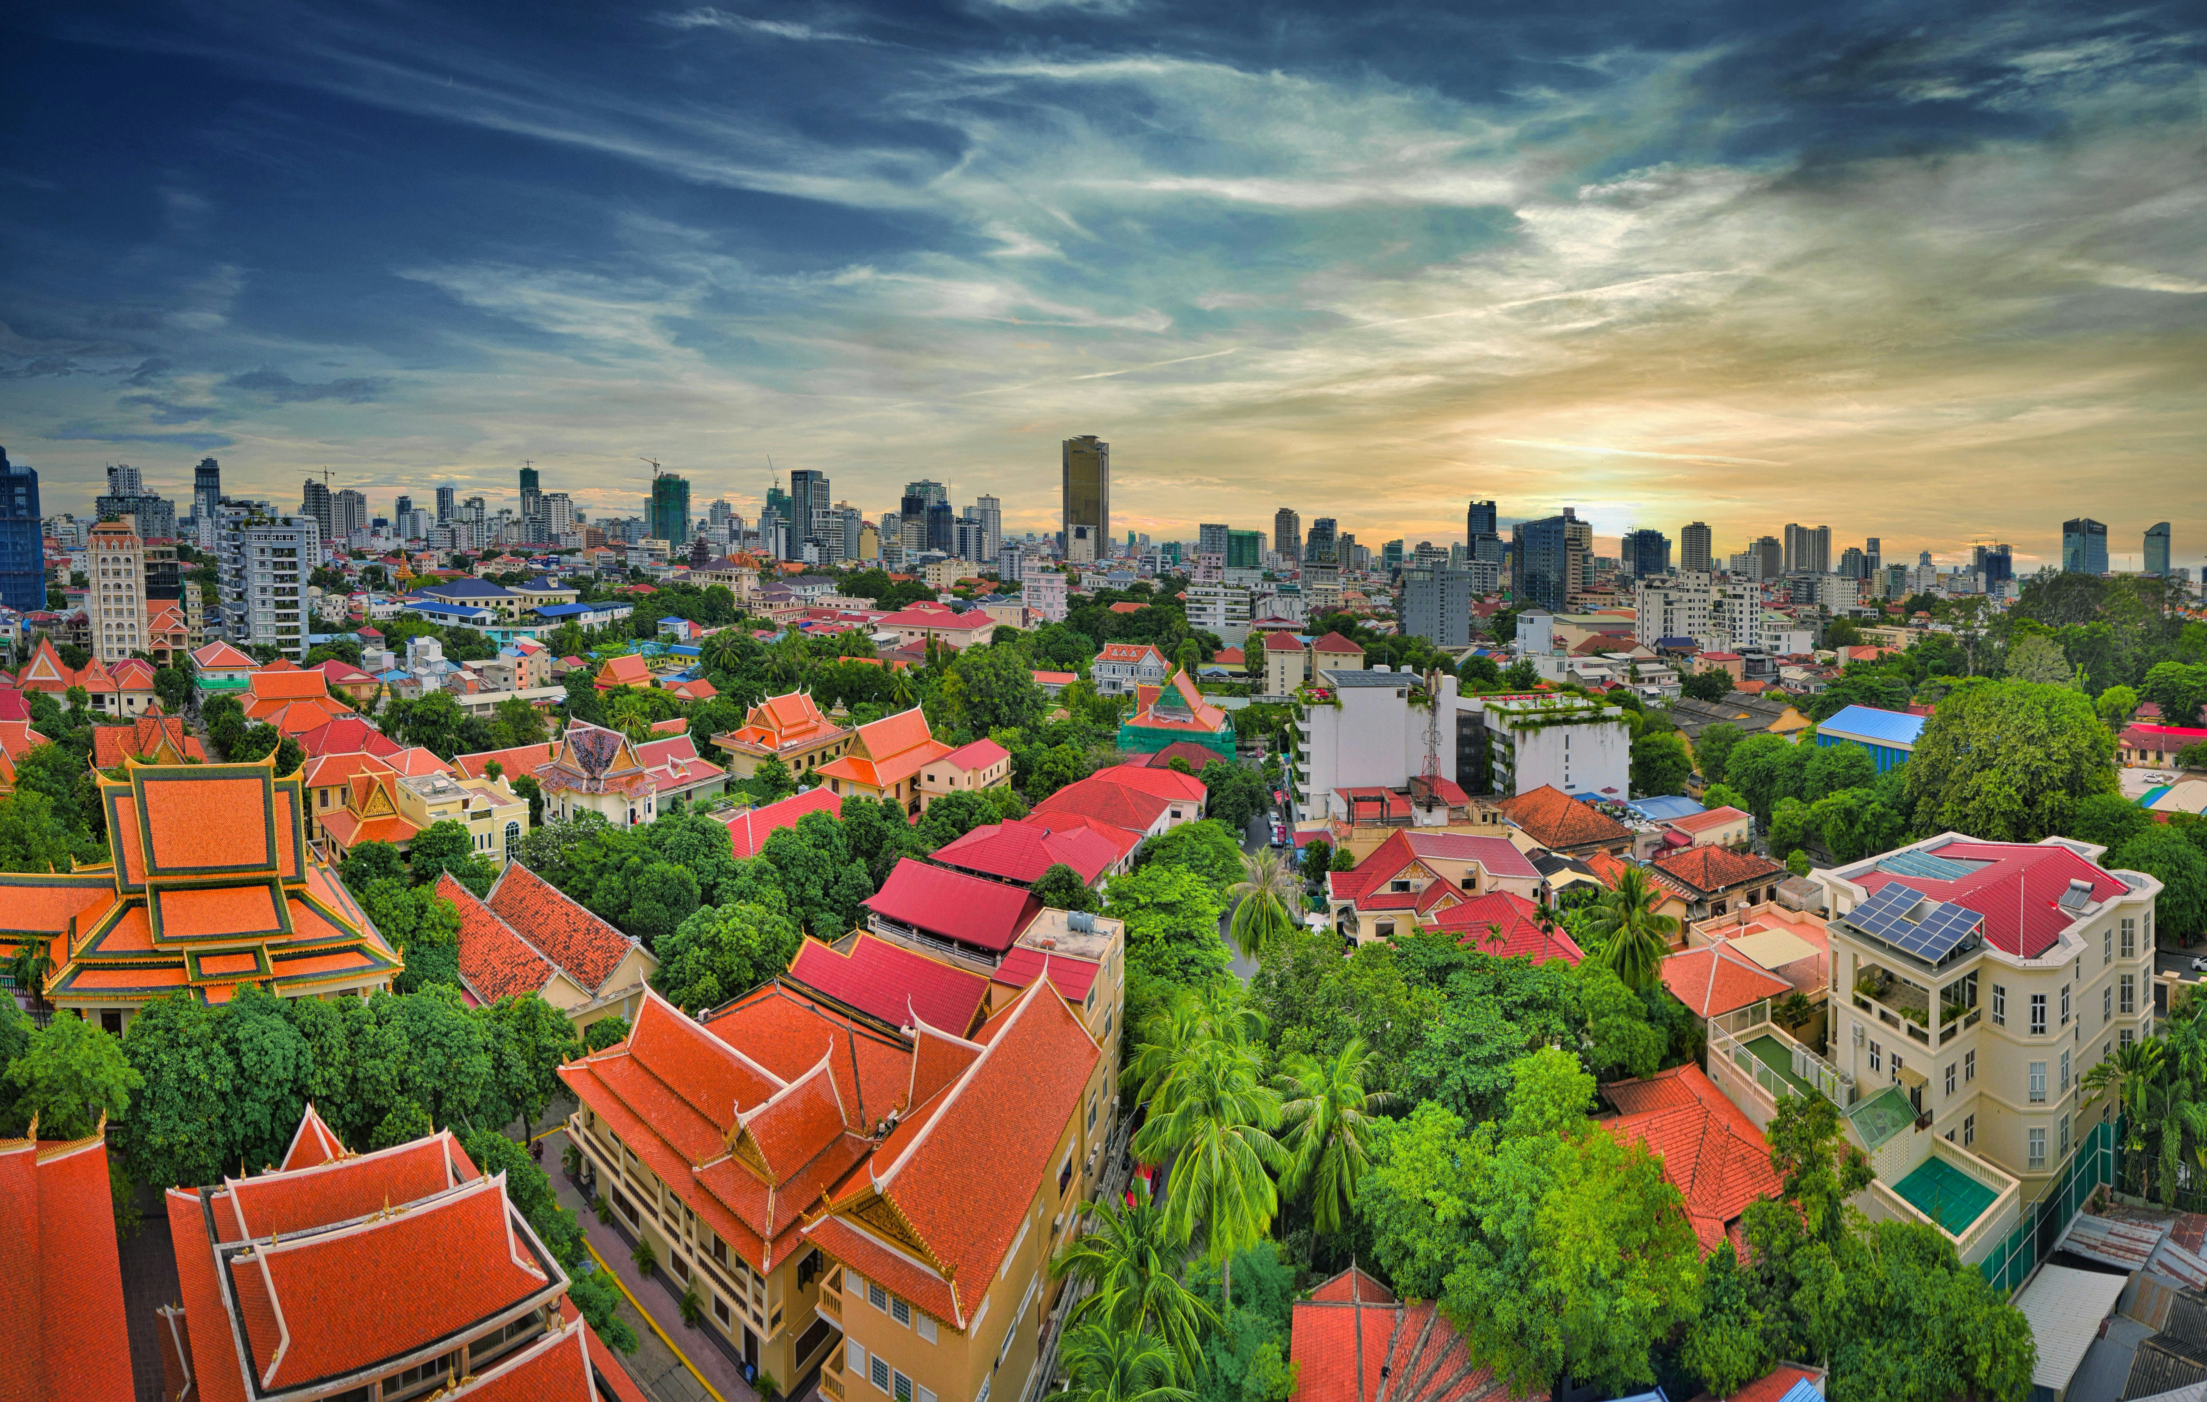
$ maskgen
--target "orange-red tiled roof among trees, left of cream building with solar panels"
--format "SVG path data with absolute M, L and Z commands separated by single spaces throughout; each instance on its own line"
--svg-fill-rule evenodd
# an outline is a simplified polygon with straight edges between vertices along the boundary
M 1644 1139 L 1662 1159 L 1662 1177 L 1686 1199 L 1704 1256 L 1724 1243 L 1726 1225 L 1748 1203 L 1777 1197 L 1779 1175 L 1761 1130 L 1699 1066 L 1673 1066 L 1604 1091 L 1624 1111 L 1604 1128 L 1624 1144 Z

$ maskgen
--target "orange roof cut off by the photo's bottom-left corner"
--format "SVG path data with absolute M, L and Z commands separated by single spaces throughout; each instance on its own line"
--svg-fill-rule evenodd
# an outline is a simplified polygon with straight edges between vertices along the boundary
M 106 1126 L 88 1139 L 0 1139 L 0 1347 L 11 1398 L 130 1402 Z

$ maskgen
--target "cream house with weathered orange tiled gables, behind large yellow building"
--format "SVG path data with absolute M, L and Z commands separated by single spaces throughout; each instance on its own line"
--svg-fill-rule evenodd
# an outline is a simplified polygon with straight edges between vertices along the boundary
M 437 894 L 459 910 L 459 983 L 472 1007 L 539 994 L 576 1031 L 603 1018 L 633 1018 L 660 960 L 543 877 L 508 861 L 490 899 L 437 877 Z

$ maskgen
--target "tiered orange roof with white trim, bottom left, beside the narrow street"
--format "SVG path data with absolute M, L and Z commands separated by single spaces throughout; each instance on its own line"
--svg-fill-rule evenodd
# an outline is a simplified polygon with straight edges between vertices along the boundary
M 183 1298 L 157 1311 L 163 1395 L 426 1384 L 477 1402 L 642 1402 L 567 1300 L 567 1272 L 505 1175 L 483 1177 L 450 1130 L 353 1153 L 309 1106 L 282 1168 L 170 1188 L 168 1232 Z M 391 1278 L 408 1281 L 404 1309 L 360 1303 L 362 1281 Z M 119 1376 L 130 1395 L 128 1367 Z

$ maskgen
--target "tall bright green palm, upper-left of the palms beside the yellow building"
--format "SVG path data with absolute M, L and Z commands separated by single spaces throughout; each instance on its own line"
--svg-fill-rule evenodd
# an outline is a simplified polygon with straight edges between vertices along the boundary
M 1141 1159 L 1159 1164 L 1172 1155 L 1165 1221 L 1183 1241 L 1203 1228 L 1203 1254 L 1223 1267 L 1225 1314 L 1234 1307 L 1234 1256 L 1265 1241 L 1280 1212 L 1271 1172 L 1289 1166 L 1271 1137 L 1280 1093 L 1262 1073 L 1265 1053 L 1251 1040 L 1194 1042 L 1163 1073 L 1150 1122 L 1134 1135 Z

